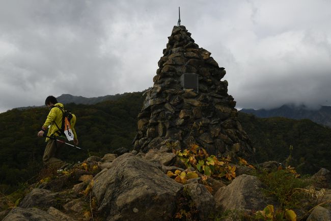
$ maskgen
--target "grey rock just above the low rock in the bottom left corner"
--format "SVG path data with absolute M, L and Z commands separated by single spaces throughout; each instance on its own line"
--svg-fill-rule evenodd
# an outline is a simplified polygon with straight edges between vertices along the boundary
M 38 207 L 45 209 L 50 206 L 55 206 L 57 204 L 57 195 L 58 193 L 53 193 L 47 189 L 35 188 L 24 197 L 20 203 L 20 207 Z

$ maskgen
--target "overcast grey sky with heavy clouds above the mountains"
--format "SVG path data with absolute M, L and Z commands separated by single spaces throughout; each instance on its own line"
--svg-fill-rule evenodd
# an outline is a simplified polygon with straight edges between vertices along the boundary
M 153 86 L 178 6 L 237 108 L 331 106 L 329 0 L 0 0 L 0 112 Z

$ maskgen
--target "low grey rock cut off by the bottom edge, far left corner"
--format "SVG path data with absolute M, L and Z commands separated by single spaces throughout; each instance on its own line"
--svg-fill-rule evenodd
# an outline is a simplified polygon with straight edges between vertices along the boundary
M 59 221 L 59 219 L 41 209 L 15 207 L 3 221 Z

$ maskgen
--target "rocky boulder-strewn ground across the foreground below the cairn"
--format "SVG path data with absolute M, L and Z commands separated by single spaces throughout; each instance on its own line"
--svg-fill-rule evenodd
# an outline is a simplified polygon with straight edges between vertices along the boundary
M 118 157 L 92 156 L 69 171 L 45 175 L 25 189 L 25 197 L 17 205 L 3 197 L 0 217 L 4 221 L 239 220 L 236 218 L 242 214 L 251 214 L 247 216 L 251 219 L 244 220 L 267 220 L 254 214 L 268 205 L 278 208 L 280 202 L 265 193 L 256 170 L 270 173 L 278 166 L 277 162 L 255 168 L 236 165 L 236 178 L 230 182 L 186 168 L 167 146 L 146 154 L 132 151 Z M 182 172 L 186 174 L 184 180 L 179 175 L 178 179 L 169 176 Z M 311 193 L 321 195 L 307 197 L 308 209 L 304 206 L 307 202 L 301 202 L 302 210 L 294 210 L 297 217 L 293 220 L 331 220 L 330 171 L 321 169 L 309 179 L 307 190 L 314 186 Z

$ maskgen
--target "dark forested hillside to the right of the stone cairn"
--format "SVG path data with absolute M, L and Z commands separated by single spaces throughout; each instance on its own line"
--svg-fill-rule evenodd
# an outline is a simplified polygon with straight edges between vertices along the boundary
M 284 162 L 291 154 L 291 165 L 300 173 L 315 173 L 320 167 L 331 169 L 331 129 L 304 119 L 259 118 L 239 113 L 243 129 L 256 148 L 259 162 Z M 290 145 L 293 146 L 292 152 Z

